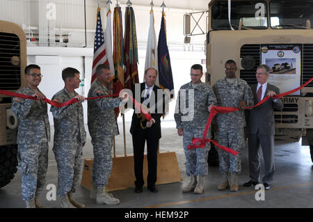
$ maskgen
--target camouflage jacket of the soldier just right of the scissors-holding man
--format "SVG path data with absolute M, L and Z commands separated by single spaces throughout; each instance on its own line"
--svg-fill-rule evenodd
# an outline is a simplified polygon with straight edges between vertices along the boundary
M 189 98 L 188 93 L 191 92 L 193 92 L 194 95 Z M 181 97 L 182 101 L 180 99 Z M 211 86 L 202 82 L 195 88 L 192 87 L 191 82 L 184 84 L 179 89 L 176 102 L 174 114 L 176 128 L 204 128 L 209 118 L 207 107 L 212 102 L 216 104 L 216 97 Z M 194 106 L 194 109 L 192 109 L 192 106 Z M 184 120 L 184 118 L 186 118 L 186 120 Z

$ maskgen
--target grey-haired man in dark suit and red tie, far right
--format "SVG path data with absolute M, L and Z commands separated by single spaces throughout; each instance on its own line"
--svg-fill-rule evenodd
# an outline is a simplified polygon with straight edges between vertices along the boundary
M 268 84 L 268 65 L 257 67 L 257 82 L 252 85 L 253 100 L 255 104 L 263 100 L 264 96 L 273 97 L 280 93 L 279 88 Z M 252 187 L 260 182 L 259 145 L 262 147 L 265 175 L 262 179 L 264 188 L 271 188 L 274 174 L 274 109 L 282 111 L 284 104 L 281 99 L 269 99 L 264 104 L 248 111 L 248 145 L 249 145 L 249 169 L 250 181 L 243 184 L 244 187 Z

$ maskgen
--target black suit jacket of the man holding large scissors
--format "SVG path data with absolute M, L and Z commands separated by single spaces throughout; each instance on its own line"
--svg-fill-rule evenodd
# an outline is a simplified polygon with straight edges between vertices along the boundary
M 144 97 L 141 97 L 141 95 L 143 95 L 143 91 L 145 90 L 145 83 L 140 84 L 140 89 L 141 89 L 140 95 L 138 95 L 138 92 L 136 92 L 135 88 L 132 89 L 132 93 L 133 93 L 134 99 L 137 102 L 140 102 L 142 104 L 143 101 L 145 100 Z M 158 92 L 157 92 L 158 89 L 161 89 L 161 88 L 154 85 L 154 88 L 153 88 L 152 93 L 150 95 L 150 114 L 151 114 L 151 116 L 155 122 L 152 125 L 152 127 L 146 128 L 145 130 L 148 130 L 148 132 L 151 134 L 155 134 L 155 136 L 159 139 L 159 138 L 161 138 L 161 120 L 160 119 L 161 119 L 161 116 L 163 116 L 163 113 L 165 110 L 165 96 L 163 94 L 158 95 Z M 160 92 L 159 92 L 159 94 L 160 94 Z M 140 101 L 139 101 L 139 96 L 140 96 Z M 155 98 L 155 100 L 153 101 L 152 98 Z M 158 107 L 159 107 L 159 109 L 158 109 Z M 159 110 L 159 113 L 158 113 L 158 110 Z M 160 113 L 160 111 L 162 111 L 162 113 Z M 136 132 L 136 129 L 141 127 L 140 122 L 142 119 L 138 118 L 138 115 L 140 115 L 140 113 L 138 113 L 138 115 L 137 115 L 136 112 L 138 113 L 138 111 L 136 111 L 136 109 L 135 109 L 132 120 L 131 120 L 130 133 L 132 135 L 134 135 L 134 133 Z M 142 125 L 145 127 L 146 124 L 147 124 L 147 120 L 144 120 L 142 122 Z

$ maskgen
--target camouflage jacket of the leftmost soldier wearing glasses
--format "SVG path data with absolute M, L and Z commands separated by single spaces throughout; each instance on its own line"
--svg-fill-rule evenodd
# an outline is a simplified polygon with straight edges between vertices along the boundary
M 40 92 L 39 89 L 38 92 Z M 17 93 L 33 95 L 35 91 L 29 88 L 29 86 L 25 86 L 18 90 Z M 13 100 L 12 111 L 19 119 L 17 143 L 33 144 L 49 142 L 50 124 L 47 103 L 40 100 L 28 100 L 17 97 L 15 100 Z M 19 100 L 20 102 L 17 102 Z

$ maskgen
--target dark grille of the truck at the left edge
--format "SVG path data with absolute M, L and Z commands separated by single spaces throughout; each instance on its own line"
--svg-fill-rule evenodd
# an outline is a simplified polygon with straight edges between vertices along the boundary
M 21 87 L 20 42 L 13 33 L 0 32 L 0 89 Z

